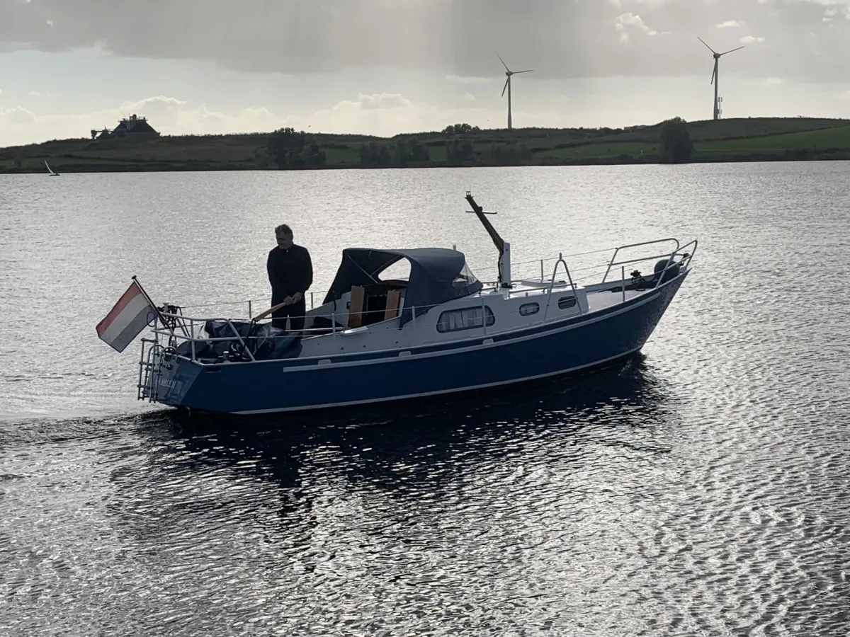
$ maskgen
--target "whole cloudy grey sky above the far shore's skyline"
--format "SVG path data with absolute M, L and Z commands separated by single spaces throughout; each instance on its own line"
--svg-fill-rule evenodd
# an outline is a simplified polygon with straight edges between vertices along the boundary
M 0 145 L 161 132 L 850 116 L 850 0 L 0 0 Z

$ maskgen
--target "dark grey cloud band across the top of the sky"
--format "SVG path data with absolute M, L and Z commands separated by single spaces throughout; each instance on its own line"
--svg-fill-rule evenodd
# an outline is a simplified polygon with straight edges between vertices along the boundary
M 289 73 L 353 66 L 493 76 L 711 75 L 724 69 L 842 82 L 850 0 L 0 0 L 0 47 L 100 46 L 119 56 L 212 60 Z M 718 29 L 731 20 L 740 27 Z M 619 26 L 618 26 L 619 25 Z M 494 64 L 495 61 L 495 64 Z

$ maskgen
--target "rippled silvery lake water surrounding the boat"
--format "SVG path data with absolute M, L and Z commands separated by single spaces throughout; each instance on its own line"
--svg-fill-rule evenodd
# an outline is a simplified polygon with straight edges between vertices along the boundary
M 157 302 L 268 296 L 273 228 L 514 262 L 677 236 L 643 355 L 257 420 L 135 400 Z M 850 634 L 850 163 L 0 176 L 0 634 Z M 259 302 L 262 305 L 263 302 Z M 256 306 L 255 306 L 256 307 Z

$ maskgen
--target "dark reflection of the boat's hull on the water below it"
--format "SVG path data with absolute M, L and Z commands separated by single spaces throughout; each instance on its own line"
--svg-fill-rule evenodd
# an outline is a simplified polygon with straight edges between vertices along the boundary
M 659 383 L 647 378 L 638 355 L 625 366 L 574 384 L 543 381 L 437 404 L 411 400 L 240 419 L 172 411 L 143 420 L 168 427 L 183 446 L 172 458 L 181 466 L 186 459 L 200 463 L 201 470 L 214 466 L 233 471 L 251 463 L 258 477 L 286 485 L 282 478 L 297 476 L 303 459 L 332 449 L 331 466 L 344 467 L 350 482 L 367 480 L 404 495 L 417 485 L 433 491 L 444 480 L 510 462 L 524 445 L 545 445 L 553 437 L 569 437 L 575 444 L 582 429 L 615 429 L 626 421 L 627 432 L 618 432 L 612 441 L 599 437 L 598 443 L 636 453 L 663 451 L 642 431 L 661 420 L 664 394 Z M 634 440 L 633 431 L 640 431 Z

